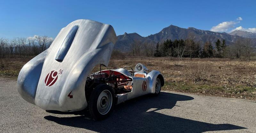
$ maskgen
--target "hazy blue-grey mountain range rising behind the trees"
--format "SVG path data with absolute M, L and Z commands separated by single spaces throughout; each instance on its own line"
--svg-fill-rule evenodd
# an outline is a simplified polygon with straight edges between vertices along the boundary
M 115 44 L 114 49 L 127 52 L 130 51 L 130 46 L 134 40 L 140 40 L 142 43 L 154 43 L 157 42 L 161 43 L 164 42 L 166 39 L 187 39 L 189 34 L 194 36 L 194 40 L 196 42 L 200 42 L 204 44 L 206 41 L 210 41 L 215 46 L 214 43 L 217 39 L 225 39 L 227 45 L 234 45 L 237 39 L 242 39 L 244 37 L 252 38 L 253 45 L 256 46 L 256 38 L 255 34 L 252 32 L 244 32 L 244 31 L 234 31 L 231 33 L 226 32 L 212 32 L 206 30 L 199 30 L 193 27 L 180 28 L 178 26 L 170 25 L 160 32 L 156 34 L 151 34 L 147 37 L 142 37 L 138 33 L 124 33 L 123 35 L 117 36 L 117 41 Z

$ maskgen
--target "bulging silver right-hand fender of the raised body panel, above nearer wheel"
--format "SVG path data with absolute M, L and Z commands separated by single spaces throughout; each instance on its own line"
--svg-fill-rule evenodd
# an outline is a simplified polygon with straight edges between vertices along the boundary
M 62 108 L 72 108 L 72 111 L 81 110 L 87 107 L 85 98 L 85 82 L 93 67 L 98 64 L 108 66 L 109 53 L 112 53 L 114 44 L 108 43 L 89 53 L 85 53 L 79 61 L 74 65 L 63 85 L 63 91 L 60 94 L 59 104 Z M 92 56 L 97 55 L 97 56 Z M 73 99 L 67 97 L 72 91 Z M 64 107 L 64 106 L 69 107 Z M 68 110 L 62 110 L 68 111 Z

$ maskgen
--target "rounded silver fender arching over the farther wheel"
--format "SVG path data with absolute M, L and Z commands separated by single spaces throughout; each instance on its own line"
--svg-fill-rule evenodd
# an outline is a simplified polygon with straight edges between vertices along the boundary
M 149 93 L 153 93 L 153 94 L 155 93 L 156 79 L 158 76 L 162 76 L 162 78 L 163 78 L 163 75 L 159 71 L 156 71 L 156 70 L 153 70 L 147 74 L 147 78 L 149 79 Z M 163 78 L 162 83 L 164 85 L 164 78 Z M 163 85 L 161 85 L 161 86 L 163 86 Z

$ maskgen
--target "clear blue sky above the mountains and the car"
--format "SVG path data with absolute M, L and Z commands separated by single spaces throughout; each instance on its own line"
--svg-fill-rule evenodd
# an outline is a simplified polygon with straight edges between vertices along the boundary
M 0 38 L 55 38 L 62 27 L 76 19 L 111 24 L 117 35 L 137 32 L 148 36 L 171 24 L 216 32 L 237 27 L 256 32 L 256 1 L 6 0 L 0 2 Z

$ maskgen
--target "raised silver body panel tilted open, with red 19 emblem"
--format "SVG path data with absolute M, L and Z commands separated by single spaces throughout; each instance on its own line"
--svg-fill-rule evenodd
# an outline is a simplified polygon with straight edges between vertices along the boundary
M 37 81 L 37 87 L 30 88 L 36 93 L 27 93 L 28 82 L 23 79 L 33 77 L 33 73 L 23 76 L 24 72 L 32 71 L 27 64 L 19 74 L 19 93 L 26 101 L 45 110 L 76 111 L 86 108 L 86 78 L 95 65 L 108 66 L 115 42 L 116 34 L 111 25 L 82 19 L 68 24 L 44 53 L 41 70 L 38 68 L 34 72 L 40 75 L 33 79 Z M 34 63 L 40 64 L 37 61 Z

